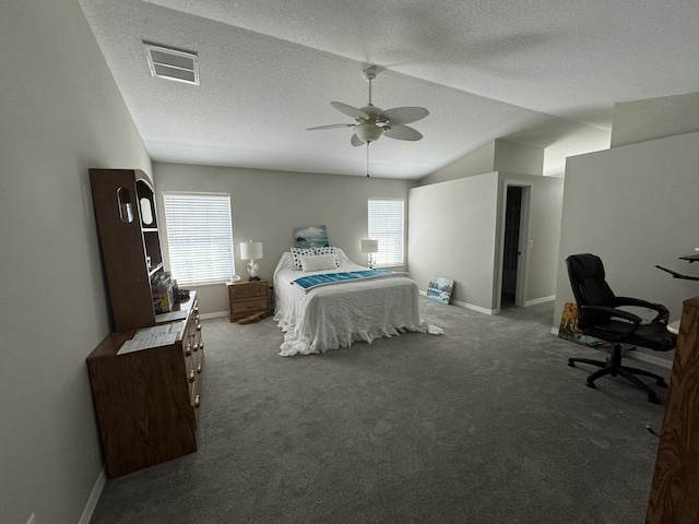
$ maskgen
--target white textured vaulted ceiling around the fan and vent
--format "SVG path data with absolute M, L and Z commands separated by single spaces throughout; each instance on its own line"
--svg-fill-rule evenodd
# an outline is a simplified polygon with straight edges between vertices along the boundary
M 80 0 L 154 160 L 364 176 L 330 106 L 423 106 L 375 177 L 420 178 L 494 139 L 608 146 L 616 102 L 699 91 L 696 0 Z M 197 52 L 200 86 L 151 78 L 142 41 Z

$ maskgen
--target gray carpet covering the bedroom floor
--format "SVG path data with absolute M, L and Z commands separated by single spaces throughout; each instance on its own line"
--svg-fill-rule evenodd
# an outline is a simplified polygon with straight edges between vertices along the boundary
M 199 451 L 109 480 L 92 522 L 642 523 L 663 405 L 587 388 L 566 359 L 601 354 L 552 335 L 553 307 L 422 297 L 443 336 L 292 358 L 271 319 L 205 320 Z

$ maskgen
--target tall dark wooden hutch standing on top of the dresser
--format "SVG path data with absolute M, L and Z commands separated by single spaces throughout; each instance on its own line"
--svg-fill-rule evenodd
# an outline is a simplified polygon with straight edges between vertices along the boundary
M 90 169 L 90 182 L 115 331 L 154 325 L 163 255 L 153 188 L 138 169 Z

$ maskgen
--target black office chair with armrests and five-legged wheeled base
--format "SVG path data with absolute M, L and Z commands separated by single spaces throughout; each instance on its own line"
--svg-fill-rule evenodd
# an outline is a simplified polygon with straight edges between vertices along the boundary
M 659 404 L 660 401 L 655 392 L 636 376 L 650 377 L 662 388 L 667 388 L 665 380 L 659 374 L 643 369 L 621 366 L 621 344 L 649 347 L 656 352 L 673 349 L 677 337 L 667 331 L 667 309 L 660 303 L 615 296 L 604 279 L 602 260 L 594 254 L 571 254 L 566 259 L 566 265 L 572 293 L 578 302 L 578 327 L 585 335 L 601 338 L 614 345 L 612 355 L 606 361 L 569 358 L 568 366 L 574 368 L 576 362 L 583 362 L 602 368 L 588 377 L 588 386 L 590 388 L 595 388 L 594 381 L 600 377 L 620 374 L 643 390 L 648 394 L 649 402 Z M 623 306 L 648 308 L 656 311 L 657 314 L 650 322 L 643 321 L 633 313 L 617 309 Z

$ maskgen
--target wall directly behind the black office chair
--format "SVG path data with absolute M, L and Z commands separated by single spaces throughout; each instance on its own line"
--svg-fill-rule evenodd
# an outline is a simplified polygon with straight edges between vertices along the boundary
M 582 252 L 602 258 L 617 295 L 664 303 L 679 318 L 699 285 L 654 266 L 699 275 L 677 260 L 699 247 L 697 166 L 697 132 L 568 158 L 554 325 L 574 301 L 565 259 Z

